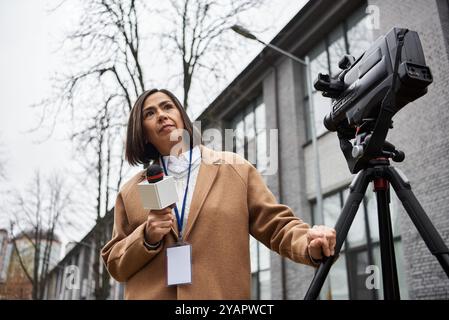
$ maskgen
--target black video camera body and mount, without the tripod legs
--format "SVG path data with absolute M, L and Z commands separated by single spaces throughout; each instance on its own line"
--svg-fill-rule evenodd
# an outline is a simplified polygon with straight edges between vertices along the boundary
M 335 78 L 320 73 L 314 87 L 333 99 L 325 127 L 346 140 L 357 138 L 352 152 L 342 146 L 350 171 L 356 173 L 369 160 L 389 154 L 385 138 L 392 117 L 426 94 L 433 79 L 418 34 L 402 28 L 378 38 L 357 60 L 345 55 L 338 66 L 342 71 Z

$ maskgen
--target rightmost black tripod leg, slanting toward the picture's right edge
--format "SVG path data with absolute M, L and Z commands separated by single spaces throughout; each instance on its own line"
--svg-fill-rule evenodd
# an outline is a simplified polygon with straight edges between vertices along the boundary
M 393 185 L 396 194 L 401 200 L 410 219 L 423 238 L 430 252 L 437 258 L 446 275 L 449 277 L 449 249 L 444 243 L 438 231 L 433 226 L 421 204 L 412 192 L 408 181 L 402 178 L 399 172 L 393 168 L 387 168 L 388 180 Z

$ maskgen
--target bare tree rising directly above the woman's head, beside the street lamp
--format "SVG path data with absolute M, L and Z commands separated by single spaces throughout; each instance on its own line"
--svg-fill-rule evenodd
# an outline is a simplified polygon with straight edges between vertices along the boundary
M 234 38 L 228 30 L 238 17 L 248 10 L 263 4 L 263 0 L 170 0 L 167 21 L 168 28 L 162 33 L 161 49 L 167 57 L 175 57 L 182 62 L 182 87 L 184 107 L 189 107 L 192 83 L 203 79 L 203 85 L 213 86 L 204 81 L 207 74 L 216 81 L 226 77 L 227 69 L 233 63 L 227 57 L 237 50 Z

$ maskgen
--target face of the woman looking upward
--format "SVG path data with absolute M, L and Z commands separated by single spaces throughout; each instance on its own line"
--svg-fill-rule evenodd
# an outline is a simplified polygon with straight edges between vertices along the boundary
M 170 154 L 177 141 L 170 141 L 173 130 L 184 129 L 181 113 L 172 99 L 163 92 L 156 92 L 143 103 L 143 127 L 146 140 L 163 155 Z

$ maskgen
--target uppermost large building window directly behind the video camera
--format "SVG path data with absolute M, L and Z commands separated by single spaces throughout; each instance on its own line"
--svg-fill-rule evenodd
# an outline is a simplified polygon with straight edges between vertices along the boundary
M 335 76 L 339 73 L 338 62 L 348 52 L 354 57 L 360 56 L 372 43 L 373 33 L 370 16 L 366 14 L 366 6 L 354 12 L 348 19 L 337 25 L 309 53 L 312 81 L 318 73 Z M 304 68 L 303 68 L 304 69 Z M 305 70 L 304 70 L 305 71 Z M 303 75 L 304 107 L 306 114 L 306 137 L 312 138 L 309 96 L 307 94 L 307 77 Z M 316 135 L 321 136 L 327 129 L 323 119 L 330 112 L 331 99 L 322 96 L 321 92 L 312 89 L 314 103 L 314 123 Z

